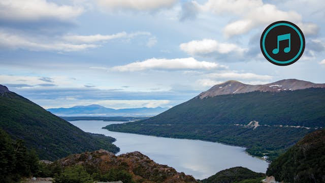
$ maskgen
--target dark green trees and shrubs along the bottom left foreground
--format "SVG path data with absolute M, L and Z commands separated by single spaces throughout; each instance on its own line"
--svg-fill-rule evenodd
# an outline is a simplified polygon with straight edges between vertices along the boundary
M 12 140 L 0 129 L 0 182 L 20 182 L 24 178 L 54 177 L 55 183 L 93 183 L 97 181 L 122 180 L 131 183 L 132 175 L 124 169 L 99 171 L 95 167 L 62 167 L 57 162 L 45 164 L 39 161 L 36 151 L 25 146 L 21 139 Z

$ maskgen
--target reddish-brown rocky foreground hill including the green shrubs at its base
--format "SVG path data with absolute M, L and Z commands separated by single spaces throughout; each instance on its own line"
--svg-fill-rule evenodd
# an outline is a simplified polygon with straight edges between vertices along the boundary
M 78 166 L 81 166 L 82 170 L 86 170 L 83 172 L 84 177 L 87 177 L 85 174 L 88 174 L 89 179 L 105 182 L 118 180 L 122 180 L 124 183 L 197 182 L 192 176 L 185 175 L 183 172 L 179 173 L 167 165 L 159 165 L 138 151 L 115 156 L 109 151 L 102 149 L 89 153 L 70 155 L 57 160 L 46 167 L 50 172 L 44 176 L 53 176 L 56 173 L 59 176 L 54 176 L 56 178 L 55 182 L 78 182 L 71 181 L 69 177 L 73 175 L 73 171 L 78 171 L 75 168 L 78 168 Z M 61 169 L 63 171 L 57 171 Z M 69 170 L 68 172 L 67 169 Z M 71 178 L 75 177 L 71 176 Z M 57 181 L 57 179 L 61 179 L 61 181 Z

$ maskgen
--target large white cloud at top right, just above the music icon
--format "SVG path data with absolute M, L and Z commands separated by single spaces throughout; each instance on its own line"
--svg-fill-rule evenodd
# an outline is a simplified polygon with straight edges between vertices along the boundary
M 262 0 L 209 0 L 203 5 L 197 3 L 197 6 L 201 11 L 216 14 L 232 13 L 239 17 L 224 27 L 223 33 L 226 37 L 244 34 L 258 26 L 266 26 L 280 20 L 297 23 L 305 35 L 314 35 L 318 32 L 316 24 L 303 23 L 302 16 L 297 12 L 279 10 L 275 5 L 264 4 Z

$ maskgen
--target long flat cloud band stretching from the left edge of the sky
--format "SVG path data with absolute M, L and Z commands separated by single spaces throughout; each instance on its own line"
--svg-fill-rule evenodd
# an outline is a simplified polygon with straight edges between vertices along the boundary
M 10 30 L 0 29 L 0 46 L 9 49 L 26 49 L 31 51 L 82 51 L 89 48 L 102 46 L 98 42 L 112 39 L 134 38 L 136 36 L 150 36 L 148 32 L 117 33 L 113 35 L 66 35 L 56 37 L 44 37 L 27 35 L 20 32 L 11 33 Z M 96 44 L 88 44 L 96 43 Z

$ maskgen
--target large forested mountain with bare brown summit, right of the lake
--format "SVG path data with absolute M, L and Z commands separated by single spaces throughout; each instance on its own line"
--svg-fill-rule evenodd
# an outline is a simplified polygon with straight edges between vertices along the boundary
M 249 85 L 228 81 L 208 91 L 211 94 L 213 88 L 217 91 L 230 83 L 234 88 L 224 90 L 224 95 L 202 97 L 207 92 L 201 93 L 149 119 L 106 129 L 244 146 L 251 155 L 273 160 L 306 134 L 325 126 L 323 84 L 289 79 L 275 82 L 281 90 L 273 90 L 275 83 L 270 83 L 263 86 L 267 91 L 249 92 L 254 90 Z M 237 93 L 240 88 L 248 92 Z

